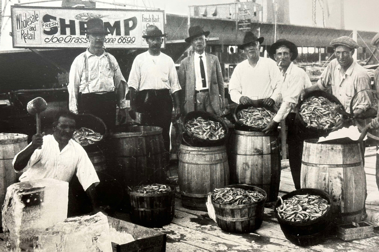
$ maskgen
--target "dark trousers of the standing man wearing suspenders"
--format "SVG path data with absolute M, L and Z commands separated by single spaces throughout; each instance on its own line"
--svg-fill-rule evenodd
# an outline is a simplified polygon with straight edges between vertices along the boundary
M 80 94 L 78 99 L 79 113 L 93 114 L 102 119 L 108 128 L 116 126 L 116 93 Z

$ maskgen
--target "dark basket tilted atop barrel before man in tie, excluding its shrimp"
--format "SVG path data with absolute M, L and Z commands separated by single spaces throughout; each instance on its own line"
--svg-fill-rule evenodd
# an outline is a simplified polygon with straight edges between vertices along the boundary
M 225 135 L 221 139 L 211 140 L 211 139 L 203 139 L 197 137 L 194 133 L 190 132 L 186 127 L 186 123 L 189 120 L 196 119 L 197 117 L 202 117 L 204 120 L 210 120 L 214 122 L 220 122 L 222 127 L 225 129 Z M 221 117 L 211 114 L 204 111 L 191 111 L 184 116 L 183 119 L 183 128 L 184 134 L 182 136 L 183 141 L 186 145 L 192 147 L 213 147 L 223 145 L 228 134 L 228 125 L 222 121 Z

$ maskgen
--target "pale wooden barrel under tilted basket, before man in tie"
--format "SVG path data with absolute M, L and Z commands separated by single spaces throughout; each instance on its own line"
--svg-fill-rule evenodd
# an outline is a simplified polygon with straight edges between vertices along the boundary
M 208 192 L 229 185 L 229 166 L 225 145 L 190 147 L 180 145 L 178 183 L 182 205 L 207 211 Z

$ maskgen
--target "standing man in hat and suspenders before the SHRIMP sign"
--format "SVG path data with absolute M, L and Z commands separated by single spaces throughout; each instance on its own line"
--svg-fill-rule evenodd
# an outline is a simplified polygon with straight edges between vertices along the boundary
M 110 129 L 116 124 L 116 103 L 119 120 L 126 118 L 126 81 L 117 60 L 104 51 L 105 35 L 101 19 L 87 21 L 89 48 L 79 54 L 71 65 L 69 85 L 69 109 L 72 113 L 88 113 L 100 117 Z

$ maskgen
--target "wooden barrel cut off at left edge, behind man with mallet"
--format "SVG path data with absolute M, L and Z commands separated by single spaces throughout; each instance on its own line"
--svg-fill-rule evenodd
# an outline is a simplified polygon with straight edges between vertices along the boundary
M 14 156 L 28 145 L 28 136 L 17 133 L 0 133 L 0 204 L 3 205 L 6 189 L 17 181 L 17 173 L 13 169 Z M 0 225 L 1 225 L 0 218 Z

